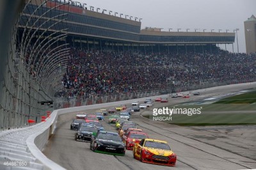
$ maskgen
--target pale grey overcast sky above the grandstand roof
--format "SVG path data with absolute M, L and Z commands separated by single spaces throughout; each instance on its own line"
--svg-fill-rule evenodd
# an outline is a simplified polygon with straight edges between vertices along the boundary
M 162 31 L 203 31 L 211 29 L 219 32 L 237 31 L 238 41 L 234 43 L 234 52 L 246 52 L 244 38 L 244 21 L 252 15 L 256 16 L 256 0 L 77 0 L 90 6 L 118 12 L 124 15 L 138 17 L 141 20 L 141 29 L 145 27 L 159 27 Z M 108 13 L 107 12 L 107 13 Z M 112 15 L 113 15 L 112 13 Z M 122 17 L 124 17 L 122 15 Z M 225 45 L 220 45 L 225 49 Z M 232 52 L 232 45 L 227 45 Z

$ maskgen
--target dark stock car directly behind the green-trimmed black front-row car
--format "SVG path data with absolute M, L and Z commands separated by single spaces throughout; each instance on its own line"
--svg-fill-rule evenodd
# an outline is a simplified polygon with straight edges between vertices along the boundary
M 97 134 L 97 128 L 95 126 L 82 126 L 75 134 L 76 141 L 91 141 L 92 136 Z

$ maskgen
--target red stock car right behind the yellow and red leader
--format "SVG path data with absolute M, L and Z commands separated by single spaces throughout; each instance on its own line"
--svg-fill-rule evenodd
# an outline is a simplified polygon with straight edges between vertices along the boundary
M 145 132 L 129 132 L 127 135 L 123 135 L 126 150 L 133 150 L 135 143 L 140 143 L 141 139 L 148 138 Z

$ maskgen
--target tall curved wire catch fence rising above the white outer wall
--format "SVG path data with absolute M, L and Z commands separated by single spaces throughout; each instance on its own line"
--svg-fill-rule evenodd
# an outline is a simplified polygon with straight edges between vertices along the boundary
M 1 72 L 0 129 L 40 122 L 53 109 L 44 102 L 53 100 L 69 54 L 63 33 L 67 13 L 56 9 L 69 4 L 45 8 L 46 3 L 24 1 L 12 27 L 6 69 Z

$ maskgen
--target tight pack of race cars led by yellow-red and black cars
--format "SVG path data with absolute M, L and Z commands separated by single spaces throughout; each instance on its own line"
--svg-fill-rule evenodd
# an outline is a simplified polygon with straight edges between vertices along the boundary
M 152 100 L 147 100 L 146 103 L 150 103 L 150 106 L 154 104 Z M 138 107 L 138 105 L 134 106 Z M 126 150 L 132 150 L 133 157 L 141 162 L 175 166 L 177 155 L 173 153 L 168 143 L 151 139 L 143 129 L 138 128 L 136 123 L 130 120 L 134 113 L 132 108 L 127 108 L 126 105 L 118 105 L 103 110 L 105 114 L 102 110 L 99 110 L 93 114 L 78 113 L 76 115 L 76 119 L 70 125 L 71 130 L 76 130 L 76 141 L 90 142 L 90 149 L 98 153 L 125 155 Z M 109 132 L 104 130 L 100 121 L 115 124 L 115 129 L 118 131 Z

